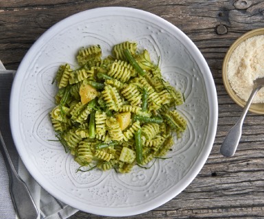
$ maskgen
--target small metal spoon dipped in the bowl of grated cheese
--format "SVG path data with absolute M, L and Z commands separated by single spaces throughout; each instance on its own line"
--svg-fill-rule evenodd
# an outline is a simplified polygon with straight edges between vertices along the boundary
M 250 98 L 248 99 L 247 104 L 244 107 L 244 110 L 237 120 L 237 123 L 230 129 L 226 138 L 224 139 L 223 144 L 221 145 L 221 154 L 225 157 L 231 157 L 235 154 L 237 150 L 237 145 L 239 144 L 239 140 L 242 134 L 242 125 L 243 120 L 245 118 L 245 114 L 247 114 L 248 109 L 250 108 L 250 104 L 252 103 L 256 92 L 258 92 L 264 86 L 264 77 L 258 78 L 254 81 L 254 87 L 252 93 L 250 94 Z

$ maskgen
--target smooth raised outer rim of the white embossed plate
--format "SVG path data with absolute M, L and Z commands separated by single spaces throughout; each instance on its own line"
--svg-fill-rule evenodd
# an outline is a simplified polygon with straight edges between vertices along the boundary
M 101 207 L 94 207 L 90 206 L 91 208 L 88 209 L 88 207 L 85 205 L 81 205 L 80 202 L 75 203 L 75 201 L 68 200 L 68 196 L 65 196 L 61 192 L 54 191 L 53 187 L 49 185 L 49 183 L 46 181 L 42 175 L 39 175 L 38 172 L 34 169 L 33 166 L 30 165 L 30 162 L 27 161 L 27 153 L 23 151 L 23 141 L 19 133 L 19 128 L 17 121 L 19 121 L 19 109 L 18 109 L 18 103 L 19 100 L 17 99 L 17 94 L 19 94 L 19 88 L 20 88 L 20 82 L 21 78 L 23 78 L 25 66 L 27 66 L 27 62 L 30 62 L 30 54 L 35 49 L 38 49 L 38 47 L 42 46 L 51 36 L 56 34 L 56 28 L 57 27 L 67 27 L 69 23 L 73 24 L 78 21 L 78 18 L 81 16 L 90 16 L 97 17 L 97 14 L 119 14 L 120 16 L 126 16 L 126 14 L 133 14 L 133 16 L 138 16 L 139 18 L 146 18 L 146 19 L 152 19 L 152 21 L 156 21 L 156 23 L 160 25 L 164 25 L 167 27 L 167 29 L 171 30 L 171 33 L 177 34 L 178 38 L 180 38 L 180 41 L 184 41 L 184 46 L 189 49 L 189 51 L 192 51 L 192 57 L 197 62 L 198 67 L 200 68 L 200 71 L 202 72 L 204 76 L 204 83 L 206 85 L 206 91 L 207 91 L 207 97 L 208 97 L 208 105 L 210 107 L 209 109 L 209 115 L 208 115 L 208 129 L 210 132 L 206 136 L 205 142 L 207 143 L 206 146 L 202 147 L 202 150 L 200 151 L 200 155 L 197 158 L 197 162 L 195 163 L 195 169 L 190 170 L 187 175 L 184 175 L 183 179 L 180 180 L 179 183 L 177 183 L 177 188 L 172 187 L 170 190 L 167 190 L 164 192 L 163 196 L 160 196 L 158 201 L 152 201 L 149 203 L 145 203 L 143 205 L 135 206 L 135 207 L 123 207 L 123 208 L 110 208 L 106 207 L 104 208 L 104 211 Z M 154 14 L 151 14 L 149 12 L 144 12 L 142 10 L 136 10 L 132 8 L 122 8 L 122 7 L 107 7 L 107 8 L 95 8 L 92 10 L 86 10 L 84 12 L 80 12 L 77 14 L 73 14 L 72 16 L 69 16 L 68 18 L 65 18 L 64 20 L 60 21 L 56 25 L 53 25 L 50 29 L 48 29 L 45 34 L 40 36 L 38 40 L 32 45 L 32 48 L 29 49 L 25 57 L 23 58 L 23 61 L 21 62 L 21 65 L 19 66 L 19 69 L 17 70 L 16 77 L 14 79 L 13 87 L 12 87 L 12 93 L 11 93 L 11 101 L 10 101 L 10 124 L 12 129 L 12 135 L 14 138 L 14 142 L 16 144 L 16 149 L 19 152 L 19 155 L 21 156 L 22 161 L 24 162 L 27 170 L 32 174 L 32 176 L 40 183 L 40 185 L 45 188 L 49 193 L 51 193 L 56 198 L 60 199 L 61 201 L 64 201 L 64 203 L 67 203 L 68 205 L 71 205 L 77 209 L 80 209 L 82 211 L 86 211 L 88 213 L 92 214 L 100 214 L 104 216 L 132 216 L 135 214 L 141 214 L 143 212 L 152 210 L 160 205 L 163 205 L 167 201 L 171 200 L 171 198 L 175 197 L 177 194 L 182 192 L 184 188 L 193 181 L 193 179 L 196 177 L 196 175 L 200 172 L 202 169 L 202 166 L 204 166 L 204 163 L 206 162 L 206 159 L 208 158 L 209 153 L 211 152 L 211 148 L 213 146 L 213 142 L 215 140 L 215 133 L 216 133 L 216 127 L 217 127 L 217 117 L 218 117 L 218 107 L 217 107 L 217 94 L 215 89 L 215 83 L 213 81 L 213 77 L 211 75 L 211 71 L 208 68 L 208 65 L 206 61 L 204 60 L 204 57 L 202 56 L 202 53 L 197 49 L 195 44 L 184 34 L 180 29 L 169 23 L 168 21 L 165 21 L 163 18 L 160 18 Z M 20 124 L 19 124 L 20 125 Z

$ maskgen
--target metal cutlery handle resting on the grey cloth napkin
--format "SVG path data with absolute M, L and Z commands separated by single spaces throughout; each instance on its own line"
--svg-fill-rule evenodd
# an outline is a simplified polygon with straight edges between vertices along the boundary
M 10 194 L 14 203 L 14 209 L 20 219 L 36 219 L 38 217 L 38 209 L 33 201 L 27 185 L 19 177 L 14 169 L 8 150 L 6 149 L 3 136 L 0 131 L 0 151 L 3 154 L 5 166 L 8 169 L 10 180 Z

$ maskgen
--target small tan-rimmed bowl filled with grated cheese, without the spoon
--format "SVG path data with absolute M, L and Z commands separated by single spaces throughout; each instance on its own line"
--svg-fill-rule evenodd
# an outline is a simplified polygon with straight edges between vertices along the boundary
M 230 97 L 244 107 L 254 80 L 264 77 L 264 28 L 248 31 L 235 40 L 224 57 L 222 77 Z M 249 111 L 264 114 L 264 88 L 257 92 Z

